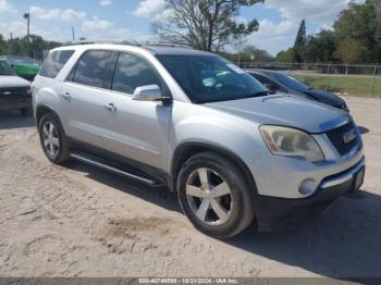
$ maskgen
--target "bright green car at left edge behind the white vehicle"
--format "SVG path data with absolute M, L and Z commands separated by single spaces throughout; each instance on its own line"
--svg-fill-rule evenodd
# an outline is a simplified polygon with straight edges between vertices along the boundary
M 29 57 L 4 55 L 0 59 L 5 60 L 16 74 L 32 82 L 40 69 L 40 64 Z

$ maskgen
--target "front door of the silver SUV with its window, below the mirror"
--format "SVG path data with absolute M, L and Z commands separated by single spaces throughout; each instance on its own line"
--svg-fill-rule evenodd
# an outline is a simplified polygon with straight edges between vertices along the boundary
M 114 153 L 157 169 L 167 169 L 171 106 L 135 101 L 132 95 L 139 86 L 167 85 L 145 58 L 121 52 L 111 91 L 101 99 L 103 147 Z

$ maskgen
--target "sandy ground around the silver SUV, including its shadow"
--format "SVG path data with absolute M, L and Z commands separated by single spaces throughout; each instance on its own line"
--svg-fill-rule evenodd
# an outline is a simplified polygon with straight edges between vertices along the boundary
M 381 276 L 381 100 L 347 98 L 364 132 L 362 191 L 282 233 L 221 241 L 176 196 L 48 162 L 30 119 L 0 114 L 0 276 Z

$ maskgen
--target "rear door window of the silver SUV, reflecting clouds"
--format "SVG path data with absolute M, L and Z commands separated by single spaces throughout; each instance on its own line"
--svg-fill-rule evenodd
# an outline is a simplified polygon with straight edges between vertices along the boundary
M 113 66 L 112 51 L 87 51 L 79 59 L 71 80 L 93 87 L 109 88 Z

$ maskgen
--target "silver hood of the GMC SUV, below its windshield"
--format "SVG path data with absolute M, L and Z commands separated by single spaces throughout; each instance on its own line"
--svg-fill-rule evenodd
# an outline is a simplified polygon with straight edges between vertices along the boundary
M 339 109 L 279 94 L 206 106 L 258 124 L 291 126 L 315 134 L 327 132 L 351 120 L 346 112 Z

